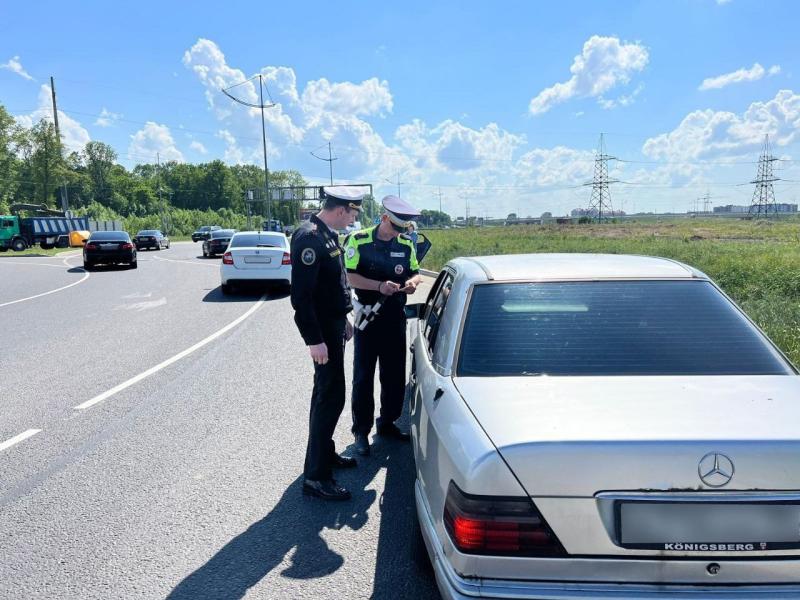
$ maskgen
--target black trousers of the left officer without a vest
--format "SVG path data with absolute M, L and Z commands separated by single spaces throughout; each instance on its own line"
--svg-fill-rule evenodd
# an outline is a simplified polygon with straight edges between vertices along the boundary
M 332 478 L 331 464 L 336 446 L 333 432 L 345 403 L 344 327 L 345 318 L 322 323 L 322 338 L 328 346 L 328 362 L 314 363 L 314 391 L 308 425 L 308 445 L 303 474 L 306 479 Z

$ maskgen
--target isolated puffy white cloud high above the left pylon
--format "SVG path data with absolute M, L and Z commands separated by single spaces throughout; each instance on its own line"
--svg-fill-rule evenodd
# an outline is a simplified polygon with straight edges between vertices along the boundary
M 647 66 L 649 58 L 647 49 L 638 42 L 593 35 L 573 60 L 572 77 L 539 92 L 529 110 L 540 115 L 570 98 L 601 98 L 615 87 L 628 84 L 634 73 Z

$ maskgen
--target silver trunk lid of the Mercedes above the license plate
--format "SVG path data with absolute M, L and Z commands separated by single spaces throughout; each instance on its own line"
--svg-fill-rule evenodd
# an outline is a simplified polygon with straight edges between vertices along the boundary
M 714 490 L 709 453 L 734 464 L 726 492 L 800 490 L 797 376 L 454 381 L 533 496 Z

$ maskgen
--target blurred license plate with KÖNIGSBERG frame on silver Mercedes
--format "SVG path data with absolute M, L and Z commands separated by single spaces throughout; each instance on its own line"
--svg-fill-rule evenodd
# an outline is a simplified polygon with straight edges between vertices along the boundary
M 688 552 L 800 548 L 800 504 L 780 502 L 618 503 L 620 545 Z

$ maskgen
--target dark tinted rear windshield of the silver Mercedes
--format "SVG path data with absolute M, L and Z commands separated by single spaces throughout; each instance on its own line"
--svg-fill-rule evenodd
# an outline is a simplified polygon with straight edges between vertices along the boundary
M 460 376 L 788 375 L 707 281 L 475 286 Z

